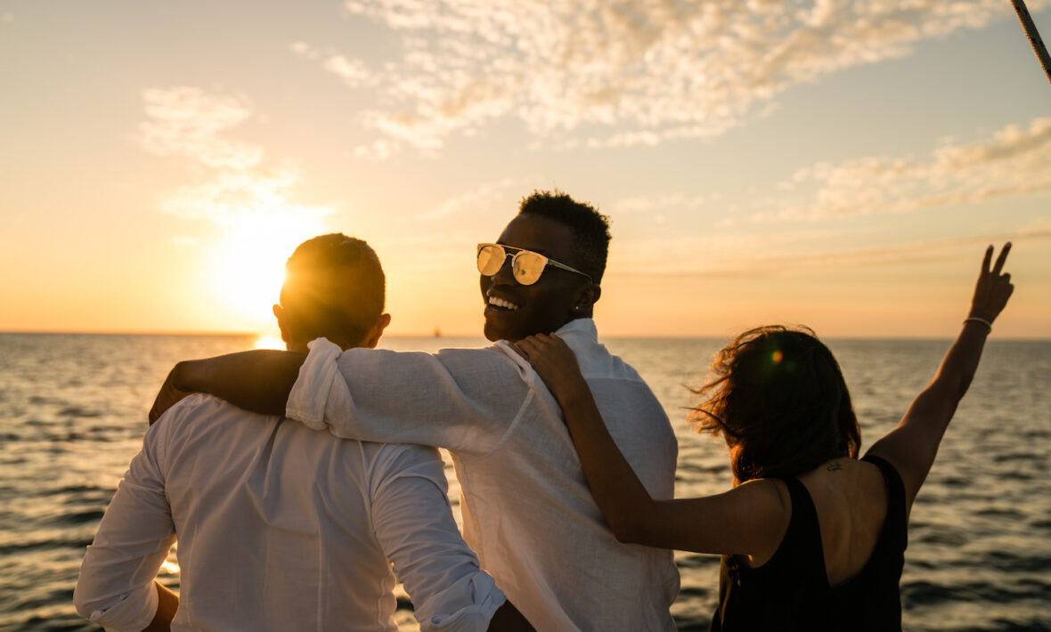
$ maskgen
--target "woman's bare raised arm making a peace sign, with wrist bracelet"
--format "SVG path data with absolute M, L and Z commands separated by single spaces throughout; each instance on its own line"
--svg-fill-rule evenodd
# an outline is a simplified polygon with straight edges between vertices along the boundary
M 912 507 L 912 501 L 934 463 L 942 436 L 970 386 L 982 359 L 986 337 L 992 332 L 992 323 L 1014 291 L 1011 275 L 1003 273 L 1010 250 L 1008 243 L 990 268 L 993 247 L 986 249 L 974 286 L 971 310 L 964 320 L 963 330 L 937 367 L 934 379 L 912 401 L 898 426 L 868 450 L 892 463 L 902 476 L 906 511 Z

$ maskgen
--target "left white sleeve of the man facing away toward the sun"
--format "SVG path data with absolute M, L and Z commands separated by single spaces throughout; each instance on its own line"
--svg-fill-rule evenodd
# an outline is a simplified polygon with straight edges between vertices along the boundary
M 120 482 L 74 590 L 77 612 L 106 630 L 138 632 L 157 612 L 153 580 L 176 542 L 158 462 L 163 422 L 146 433 L 142 450 Z

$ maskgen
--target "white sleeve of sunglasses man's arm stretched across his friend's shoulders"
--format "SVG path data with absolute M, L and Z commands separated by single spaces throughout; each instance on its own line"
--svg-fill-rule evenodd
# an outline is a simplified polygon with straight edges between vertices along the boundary
M 492 450 L 534 396 L 536 374 L 501 346 L 436 354 L 351 349 L 317 339 L 286 416 L 337 437 Z

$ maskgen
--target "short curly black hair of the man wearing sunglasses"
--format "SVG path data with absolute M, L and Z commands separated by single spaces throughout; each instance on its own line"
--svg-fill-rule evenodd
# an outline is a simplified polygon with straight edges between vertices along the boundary
M 602 280 L 610 254 L 610 219 L 598 209 L 558 189 L 537 190 L 522 198 L 518 214 L 549 217 L 573 229 L 573 247 L 580 257 L 581 272 L 586 272 L 596 283 Z

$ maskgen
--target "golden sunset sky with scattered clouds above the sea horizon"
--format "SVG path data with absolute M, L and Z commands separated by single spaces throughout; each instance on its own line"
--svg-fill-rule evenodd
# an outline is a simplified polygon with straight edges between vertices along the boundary
M 0 331 L 272 333 L 344 232 L 389 333 L 479 335 L 475 245 L 557 188 L 611 218 L 600 335 L 950 337 L 1010 240 L 995 335 L 1051 338 L 1007 0 L 0 0 Z

